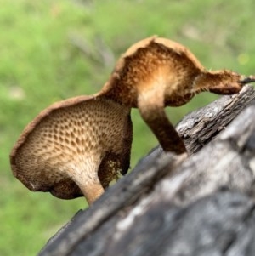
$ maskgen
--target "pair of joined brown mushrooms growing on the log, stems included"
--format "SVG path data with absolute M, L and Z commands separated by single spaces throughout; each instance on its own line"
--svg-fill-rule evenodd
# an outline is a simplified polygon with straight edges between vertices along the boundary
M 254 81 L 233 71 L 207 71 L 181 44 L 146 38 L 122 54 L 98 94 L 59 101 L 26 126 L 10 153 L 13 174 L 31 191 L 62 199 L 85 196 L 91 204 L 127 173 L 132 108 L 164 151 L 183 154 L 165 106 L 184 105 L 203 91 L 235 94 Z

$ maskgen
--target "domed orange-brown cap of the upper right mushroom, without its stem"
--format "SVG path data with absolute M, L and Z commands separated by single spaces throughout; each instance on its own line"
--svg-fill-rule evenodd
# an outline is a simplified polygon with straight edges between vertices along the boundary
M 148 37 L 122 54 L 98 95 L 139 107 L 141 94 L 155 89 L 166 99 L 171 97 L 173 105 L 182 105 L 190 95 L 184 99 L 181 87 L 184 91 L 201 71 L 205 68 L 188 48 L 167 38 Z

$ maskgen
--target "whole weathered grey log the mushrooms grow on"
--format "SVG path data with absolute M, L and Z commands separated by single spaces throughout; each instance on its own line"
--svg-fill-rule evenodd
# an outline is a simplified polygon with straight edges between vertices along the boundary
M 254 98 L 246 86 L 184 117 L 189 157 L 157 147 L 39 255 L 255 255 Z

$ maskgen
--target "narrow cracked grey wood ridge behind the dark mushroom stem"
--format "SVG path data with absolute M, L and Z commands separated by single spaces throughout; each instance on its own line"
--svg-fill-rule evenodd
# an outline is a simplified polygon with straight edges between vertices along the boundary
M 244 87 L 240 94 L 223 96 L 184 117 L 177 126 L 178 134 L 184 139 L 189 151 L 198 151 L 222 131 L 253 99 L 255 99 L 255 91 L 251 86 Z

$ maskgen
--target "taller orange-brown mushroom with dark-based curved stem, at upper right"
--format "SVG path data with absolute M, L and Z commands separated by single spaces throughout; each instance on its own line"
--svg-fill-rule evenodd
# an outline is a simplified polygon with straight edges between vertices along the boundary
M 186 151 L 184 142 L 164 107 L 184 105 L 203 91 L 235 94 L 254 81 L 255 76 L 244 77 L 233 71 L 207 71 L 183 45 L 149 37 L 127 49 L 98 95 L 139 108 L 163 150 L 182 154 Z

